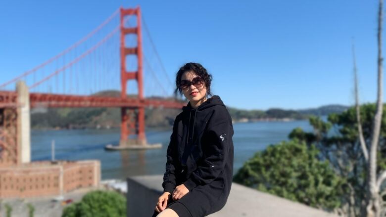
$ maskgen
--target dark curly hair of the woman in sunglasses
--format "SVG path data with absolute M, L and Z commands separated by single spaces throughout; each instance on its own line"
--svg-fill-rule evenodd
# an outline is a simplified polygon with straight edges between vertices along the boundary
M 183 65 L 180 70 L 178 70 L 176 74 L 176 89 L 174 90 L 174 93 L 177 95 L 177 93 L 180 93 L 182 95 L 182 89 L 180 88 L 181 84 L 181 78 L 182 75 L 185 72 L 193 72 L 198 77 L 204 80 L 205 87 L 206 87 L 206 95 L 212 96 L 212 92 L 210 91 L 210 84 L 212 82 L 212 75 L 208 74 L 206 69 L 199 63 L 186 63 Z

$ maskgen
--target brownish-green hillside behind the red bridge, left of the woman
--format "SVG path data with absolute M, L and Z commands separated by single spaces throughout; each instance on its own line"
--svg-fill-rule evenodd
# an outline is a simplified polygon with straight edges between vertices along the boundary
M 93 95 L 119 97 L 120 92 L 108 90 Z M 128 95 L 128 97 L 135 96 Z M 145 125 L 151 128 L 171 127 L 180 112 L 181 109 L 146 108 Z M 120 124 L 120 108 L 48 108 L 35 109 L 31 112 L 31 127 L 35 129 L 119 128 Z

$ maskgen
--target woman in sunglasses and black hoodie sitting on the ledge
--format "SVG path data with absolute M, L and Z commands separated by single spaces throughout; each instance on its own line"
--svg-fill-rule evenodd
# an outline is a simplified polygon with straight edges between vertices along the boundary
M 203 217 L 222 209 L 233 176 L 232 119 L 210 92 L 212 76 L 198 63 L 176 75 L 176 93 L 189 100 L 177 115 L 167 149 L 164 193 L 153 217 Z M 208 96 L 212 96 L 208 98 Z

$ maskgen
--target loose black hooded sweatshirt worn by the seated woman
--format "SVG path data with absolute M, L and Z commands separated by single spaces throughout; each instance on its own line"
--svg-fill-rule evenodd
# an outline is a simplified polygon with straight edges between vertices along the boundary
M 189 191 L 211 183 L 214 189 L 221 189 L 225 204 L 233 176 L 233 133 L 232 118 L 219 96 L 212 96 L 196 109 L 190 102 L 184 106 L 170 136 L 164 192 L 172 193 L 182 183 Z

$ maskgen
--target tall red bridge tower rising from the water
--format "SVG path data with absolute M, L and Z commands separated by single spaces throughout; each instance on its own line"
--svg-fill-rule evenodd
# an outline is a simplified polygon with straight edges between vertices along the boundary
M 137 26 L 125 27 L 125 17 L 135 16 Z M 121 61 L 121 97 L 126 98 L 127 81 L 136 80 L 138 84 L 138 98 L 144 100 L 143 86 L 143 50 L 142 50 L 142 29 L 141 29 L 141 9 L 120 8 L 120 61 Z M 137 35 L 137 46 L 126 47 L 125 36 L 129 34 Z M 128 55 L 137 56 L 137 70 L 128 72 L 126 68 L 126 57 Z M 129 139 L 129 135 L 137 135 L 137 138 Z M 119 146 L 147 146 L 145 137 L 145 107 L 122 107 L 121 108 L 121 138 Z

